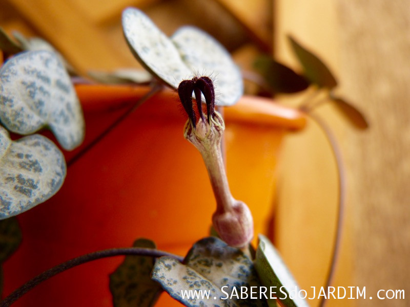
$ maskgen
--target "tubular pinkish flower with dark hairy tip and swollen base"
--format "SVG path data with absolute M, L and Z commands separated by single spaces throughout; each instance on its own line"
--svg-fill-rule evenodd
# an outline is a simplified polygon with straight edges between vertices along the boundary
M 196 120 L 192 94 L 195 94 L 199 120 Z M 207 118 L 203 115 L 201 93 L 207 104 Z M 222 160 L 221 139 L 225 128 L 221 115 L 215 111 L 215 92 L 208 77 L 184 80 L 178 87 L 179 98 L 189 119 L 184 137 L 201 153 L 208 170 L 216 199 L 212 223 L 219 236 L 230 246 L 245 247 L 253 238 L 253 218 L 248 206 L 231 195 Z

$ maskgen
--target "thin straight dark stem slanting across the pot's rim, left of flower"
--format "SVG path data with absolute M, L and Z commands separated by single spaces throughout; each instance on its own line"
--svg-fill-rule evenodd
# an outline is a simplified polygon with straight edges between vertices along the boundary
M 163 89 L 163 85 L 160 83 L 155 83 L 152 87 L 151 91 L 147 94 L 142 96 L 138 99 L 126 113 L 122 114 L 115 122 L 113 122 L 110 126 L 107 127 L 98 137 L 91 141 L 91 143 L 87 144 L 83 149 L 81 149 L 70 161 L 67 162 L 67 167 L 72 166 L 79 158 L 83 157 L 91 148 L 93 148 L 96 144 L 98 144 L 101 140 L 103 140 L 114 128 L 116 128 L 122 121 L 124 121 L 127 117 L 129 117 L 134 111 L 144 102 L 152 98 L 155 94 L 157 94 L 160 90 Z

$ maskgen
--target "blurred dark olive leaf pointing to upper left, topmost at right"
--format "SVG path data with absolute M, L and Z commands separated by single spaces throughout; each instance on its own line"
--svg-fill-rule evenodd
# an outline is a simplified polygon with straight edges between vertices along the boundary
M 336 78 L 323 61 L 301 46 L 292 36 L 288 36 L 288 38 L 303 67 L 305 77 L 319 87 L 333 89 L 337 85 Z

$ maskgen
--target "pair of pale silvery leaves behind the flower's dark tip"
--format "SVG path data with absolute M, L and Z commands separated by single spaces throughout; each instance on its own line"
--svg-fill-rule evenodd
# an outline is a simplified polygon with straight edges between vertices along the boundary
M 182 27 L 170 38 L 134 8 L 122 12 L 122 29 L 137 60 L 173 89 L 195 75 L 212 76 L 218 105 L 233 105 L 243 93 L 242 76 L 228 51 L 209 34 Z

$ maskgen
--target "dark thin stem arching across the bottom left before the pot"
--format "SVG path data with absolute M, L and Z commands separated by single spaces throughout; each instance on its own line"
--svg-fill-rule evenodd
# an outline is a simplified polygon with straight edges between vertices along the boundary
M 115 249 L 108 249 L 103 251 L 97 251 L 94 253 L 86 254 L 79 256 L 77 258 L 68 260 L 63 264 L 55 266 L 39 275 L 34 277 L 33 279 L 29 280 L 22 287 L 13 291 L 9 296 L 7 296 L 3 301 L 0 302 L 0 307 L 8 307 L 13 304 L 17 299 L 22 297 L 24 294 L 29 292 L 39 283 L 59 274 L 68 269 L 74 268 L 76 266 L 85 264 L 86 262 L 94 261 L 101 258 L 113 257 L 113 256 L 122 256 L 122 255 L 136 255 L 136 256 L 149 256 L 149 257 L 162 257 L 162 256 L 170 256 L 175 258 L 176 260 L 182 262 L 183 257 L 177 256 L 168 252 L 150 249 L 150 248 L 115 248 Z

